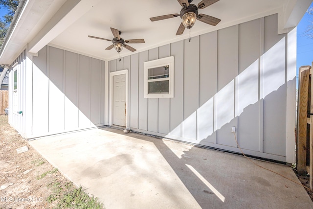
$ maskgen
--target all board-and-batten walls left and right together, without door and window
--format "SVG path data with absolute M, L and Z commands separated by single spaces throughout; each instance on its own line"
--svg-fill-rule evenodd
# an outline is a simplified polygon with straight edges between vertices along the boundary
M 26 138 L 108 125 L 109 72 L 128 70 L 131 129 L 240 152 L 235 126 L 246 154 L 293 163 L 295 37 L 295 30 L 277 35 L 277 15 L 271 15 L 121 62 L 51 46 L 38 56 L 24 51 L 17 59 L 24 114 L 10 112 L 9 122 Z M 174 98 L 144 98 L 144 62 L 168 56 L 175 59 Z

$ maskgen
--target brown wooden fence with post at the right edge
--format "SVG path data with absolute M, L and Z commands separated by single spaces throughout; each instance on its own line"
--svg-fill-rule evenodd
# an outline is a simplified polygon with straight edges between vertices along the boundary
M 302 66 L 299 69 L 296 169 L 299 175 L 310 174 L 310 188 L 313 189 L 313 79 L 311 66 Z

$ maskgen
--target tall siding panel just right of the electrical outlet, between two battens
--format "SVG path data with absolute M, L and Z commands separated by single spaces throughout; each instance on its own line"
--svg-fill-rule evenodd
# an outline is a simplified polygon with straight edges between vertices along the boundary
M 239 25 L 239 75 L 238 75 L 238 138 L 240 147 L 261 151 L 256 134 L 260 132 L 259 57 L 263 46 L 263 19 Z M 262 29 L 261 29 L 262 27 Z M 250 34 L 246 36 L 246 34 Z M 254 140 L 253 140 L 254 139 Z

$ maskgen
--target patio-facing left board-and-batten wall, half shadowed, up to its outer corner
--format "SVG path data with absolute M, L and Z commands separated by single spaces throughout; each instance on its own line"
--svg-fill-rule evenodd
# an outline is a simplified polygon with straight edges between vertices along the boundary
M 32 137 L 105 125 L 105 61 L 45 46 L 33 57 Z

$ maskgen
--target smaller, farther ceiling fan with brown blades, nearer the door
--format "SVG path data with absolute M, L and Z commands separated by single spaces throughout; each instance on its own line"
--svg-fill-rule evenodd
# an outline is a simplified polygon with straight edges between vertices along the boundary
M 96 37 L 96 36 L 88 36 L 89 38 L 94 38 L 94 39 L 101 39 L 101 40 L 105 40 L 105 41 L 110 41 L 113 44 L 108 46 L 106 48 L 106 50 L 110 50 L 114 47 L 114 49 L 118 52 L 118 54 L 123 50 L 123 47 L 127 48 L 128 50 L 130 50 L 131 52 L 134 52 L 136 49 L 134 49 L 132 46 L 129 46 L 127 44 L 142 44 L 145 43 L 144 39 L 129 39 L 129 40 L 124 40 L 120 37 L 120 35 L 122 34 L 121 31 L 115 29 L 115 28 L 111 28 L 112 34 L 114 36 L 113 40 L 110 39 L 105 39 L 105 38 L 100 38 L 100 37 Z

